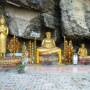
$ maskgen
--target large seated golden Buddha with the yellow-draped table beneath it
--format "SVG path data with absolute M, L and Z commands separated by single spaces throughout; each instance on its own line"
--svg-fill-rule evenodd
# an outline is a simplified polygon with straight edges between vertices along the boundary
M 59 63 L 61 63 L 61 49 L 56 47 L 54 39 L 51 38 L 51 32 L 46 32 L 46 38 L 43 39 L 41 47 L 37 48 L 37 63 L 40 62 L 40 54 L 57 53 L 59 56 Z

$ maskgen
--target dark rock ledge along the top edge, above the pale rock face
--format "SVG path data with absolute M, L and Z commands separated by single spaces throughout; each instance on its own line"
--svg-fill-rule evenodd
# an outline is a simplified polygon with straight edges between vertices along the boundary
M 53 10 L 54 0 L 6 0 L 7 3 L 17 7 L 32 8 L 42 12 Z

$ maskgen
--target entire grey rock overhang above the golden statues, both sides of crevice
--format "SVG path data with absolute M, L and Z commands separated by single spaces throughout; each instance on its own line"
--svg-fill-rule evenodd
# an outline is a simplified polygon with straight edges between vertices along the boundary
M 55 40 L 64 35 L 90 37 L 90 0 L 1 0 L 5 3 L 10 34 L 43 38 L 51 31 Z M 2 5 L 3 6 L 3 5 Z

